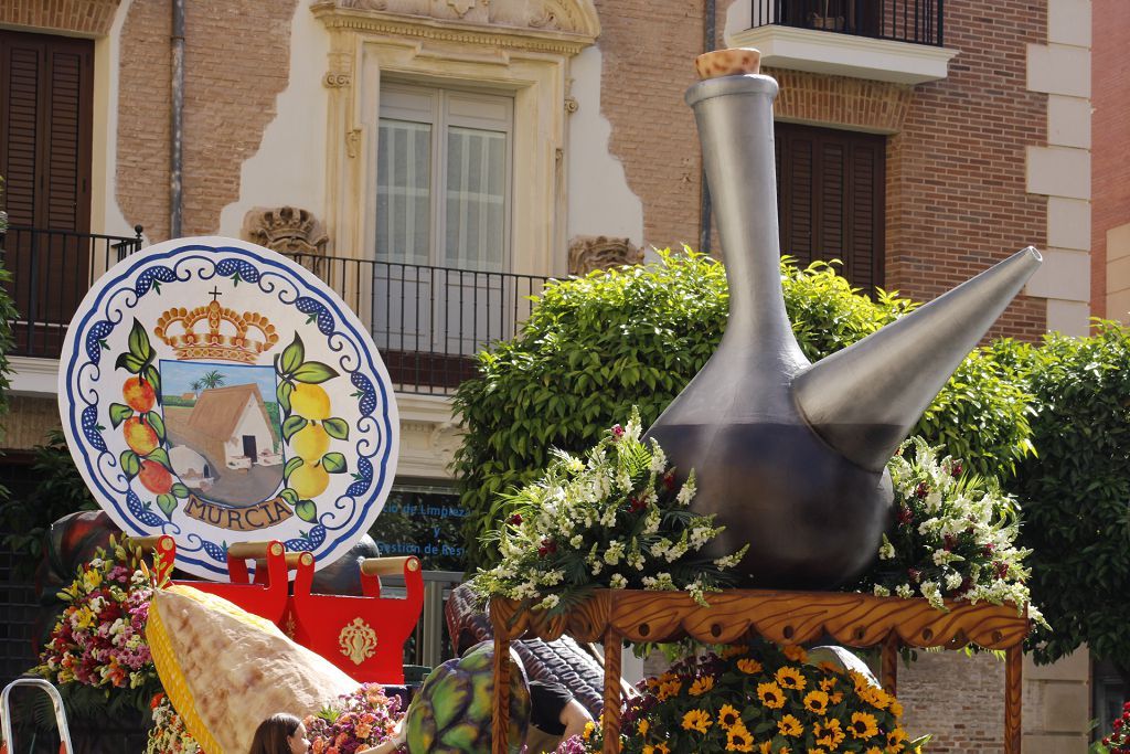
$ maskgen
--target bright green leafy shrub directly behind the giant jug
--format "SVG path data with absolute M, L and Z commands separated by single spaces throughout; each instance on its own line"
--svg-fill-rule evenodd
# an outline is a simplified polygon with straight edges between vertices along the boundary
M 832 267 L 782 260 L 785 306 L 805 354 L 819 359 L 913 309 L 878 292 L 853 292 Z M 455 393 L 466 434 L 455 454 L 468 509 L 470 566 L 493 553 L 480 537 L 504 518 L 499 493 L 521 487 L 546 466 L 551 447 L 579 452 L 638 406 L 644 425 L 706 363 L 725 328 L 722 266 L 686 250 L 661 252 L 646 267 L 593 272 L 549 285 L 513 340 L 478 356 L 480 376 Z M 914 433 L 999 476 L 1028 452 L 1024 391 L 990 353 L 958 370 Z

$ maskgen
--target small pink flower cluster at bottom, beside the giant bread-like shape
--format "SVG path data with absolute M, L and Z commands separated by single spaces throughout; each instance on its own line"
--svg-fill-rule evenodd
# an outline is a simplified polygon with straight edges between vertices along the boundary
M 355 754 L 384 743 L 395 733 L 400 699 L 384 695 L 377 684 L 342 694 L 303 720 L 313 754 Z

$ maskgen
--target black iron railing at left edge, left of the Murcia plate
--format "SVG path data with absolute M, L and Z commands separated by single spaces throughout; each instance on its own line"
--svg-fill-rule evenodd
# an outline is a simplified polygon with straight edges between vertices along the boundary
M 14 356 L 59 358 L 67 326 L 98 276 L 141 248 L 134 237 L 11 225 L 0 236 L 10 279 L 5 288 L 19 317 L 11 323 Z

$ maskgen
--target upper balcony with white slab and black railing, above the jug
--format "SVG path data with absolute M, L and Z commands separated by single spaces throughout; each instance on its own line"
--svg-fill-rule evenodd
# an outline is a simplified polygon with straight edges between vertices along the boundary
M 944 0 L 751 0 L 732 43 L 774 68 L 895 84 L 946 78 Z

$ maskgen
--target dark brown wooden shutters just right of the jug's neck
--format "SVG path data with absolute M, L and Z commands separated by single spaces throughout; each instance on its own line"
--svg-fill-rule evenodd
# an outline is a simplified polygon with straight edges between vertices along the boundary
M 776 123 L 774 144 L 782 253 L 838 259 L 854 287 L 881 287 L 886 137 Z

